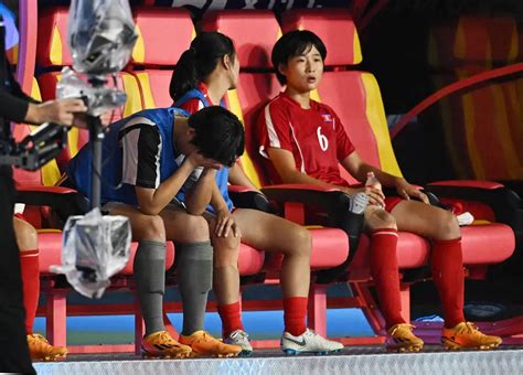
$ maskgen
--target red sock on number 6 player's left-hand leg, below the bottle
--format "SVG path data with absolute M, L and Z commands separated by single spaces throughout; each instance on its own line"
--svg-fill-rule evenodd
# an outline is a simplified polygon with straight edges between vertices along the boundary
M 396 246 L 396 229 L 376 229 L 371 235 L 371 275 L 387 329 L 405 323 L 402 317 Z

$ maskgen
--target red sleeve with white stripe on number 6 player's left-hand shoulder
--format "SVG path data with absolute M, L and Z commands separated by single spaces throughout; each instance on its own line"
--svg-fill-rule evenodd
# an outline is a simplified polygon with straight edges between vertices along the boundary
M 258 121 L 259 153 L 268 158 L 267 149 L 274 147 L 292 152 L 289 113 L 281 100 L 273 100 L 263 109 Z

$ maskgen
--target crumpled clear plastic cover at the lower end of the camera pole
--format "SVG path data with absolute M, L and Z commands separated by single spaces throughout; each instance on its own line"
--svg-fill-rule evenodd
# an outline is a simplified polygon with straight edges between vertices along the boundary
M 109 278 L 129 260 L 131 229 L 125 216 L 102 216 L 94 208 L 85 216 L 71 216 L 64 227 L 62 265 L 52 266 L 65 274 L 81 294 L 100 298 Z

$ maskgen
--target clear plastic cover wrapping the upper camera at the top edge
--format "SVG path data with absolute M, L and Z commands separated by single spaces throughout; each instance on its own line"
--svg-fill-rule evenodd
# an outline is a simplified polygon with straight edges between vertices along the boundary
M 138 38 L 127 0 L 73 0 L 67 33 L 74 69 L 95 76 L 121 71 Z

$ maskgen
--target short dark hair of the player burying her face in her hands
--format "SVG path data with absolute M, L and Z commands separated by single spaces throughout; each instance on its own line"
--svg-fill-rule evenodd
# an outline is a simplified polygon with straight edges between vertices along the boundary
M 245 133 L 239 119 L 221 106 L 200 109 L 189 117 L 195 130 L 191 143 L 209 159 L 231 167 L 244 153 Z

